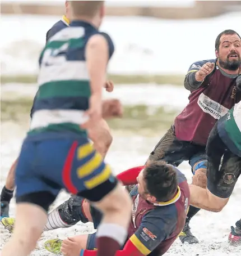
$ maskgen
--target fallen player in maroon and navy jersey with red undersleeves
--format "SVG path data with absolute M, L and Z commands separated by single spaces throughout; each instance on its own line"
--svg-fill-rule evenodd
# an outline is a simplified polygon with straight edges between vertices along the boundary
M 138 183 L 130 195 L 133 200 L 132 219 L 129 223 L 128 240 L 116 256 L 163 255 L 173 244 L 185 223 L 189 208 L 189 188 L 184 175 L 164 161 L 153 162 L 118 174 L 124 185 Z M 93 222 L 99 228 L 101 214 L 88 201 L 78 197 L 79 204 L 68 208 L 68 201 L 59 206 L 62 218 L 71 216 L 78 221 Z M 66 210 L 64 210 L 66 209 Z M 53 212 L 52 212 L 53 213 Z M 53 216 L 53 215 L 52 215 Z M 65 218 L 66 217 L 66 218 Z M 50 218 L 49 218 L 50 221 Z M 63 221 L 62 221 L 63 223 Z M 49 222 L 49 227 L 53 224 Z M 69 223 L 74 224 L 74 223 Z M 66 226 L 70 226 L 66 223 Z M 96 255 L 96 233 L 62 240 L 45 242 L 45 248 L 64 255 Z M 62 246 L 61 246 L 62 245 Z

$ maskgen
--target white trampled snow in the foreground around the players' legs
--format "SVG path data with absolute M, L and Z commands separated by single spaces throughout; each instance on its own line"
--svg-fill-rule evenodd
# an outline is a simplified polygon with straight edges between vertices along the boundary
M 18 155 L 22 138 L 25 130 L 16 123 L 7 122 L 1 125 L 1 188 L 7 176 L 8 168 L 12 161 Z M 161 136 L 162 134 L 160 134 Z M 149 155 L 158 137 L 142 137 L 138 134 L 116 134 L 114 133 L 113 145 L 109 151 L 106 161 L 113 167 L 115 173 L 135 165 L 143 164 Z M 180 165 L 180 169 L 185 173 L 191 181 L 191 170 L 188 163 Z M 231 199 L 220 213 L 210 213 L 202 210 L 191 221 L 193 233 L 200 240 L 197 245 L 182 245 L 177 239 L 174 245 L 169 249 L 167 256 L 183 255 L 183 256 L 238 256 L 240 248 L 229 246 L 227 238 L 230 226 L 241 217 L 241 179 L 238 181 Z M 62 192 L 58 199 L 55 200 L 54 206 L 61 204 L 68 198 L 65 192 Z M 52 208 L 53 209 L 53 208 Z M 15 202 L 12 201 L 10 214 L 15 214 Z M 34 216 L 33 216 L 34 218 Z M 38 221 L 38 219 L 36 219 Z M 31 256 L 50 256 L 53 255 L 43 249 L 44 241 L 59 237 L 63 239 L 67 236 L 73 236 L 80 233 L 92 232 L 91 223 L 81 224 L 67 229 L 59 229 L 55 231 L 45 232 L 38 243 L 36 249 Z M 1 246 L 8 240 L 10 234 L 1 227 Z

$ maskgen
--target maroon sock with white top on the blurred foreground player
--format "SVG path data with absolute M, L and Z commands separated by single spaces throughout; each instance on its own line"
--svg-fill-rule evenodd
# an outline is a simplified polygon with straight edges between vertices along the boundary
M 101 223 L 96 237 L 97 256 L 113 256 L 126 241 L 127 230 L 118 224 Z

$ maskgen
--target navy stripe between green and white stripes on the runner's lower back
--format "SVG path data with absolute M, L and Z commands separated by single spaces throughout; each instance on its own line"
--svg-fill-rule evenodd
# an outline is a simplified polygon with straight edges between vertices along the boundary
M 87 97 L 54 97 L 37 98 L 33 106 L 33 113 L 42 109 L 87 110 L 89 99 Z

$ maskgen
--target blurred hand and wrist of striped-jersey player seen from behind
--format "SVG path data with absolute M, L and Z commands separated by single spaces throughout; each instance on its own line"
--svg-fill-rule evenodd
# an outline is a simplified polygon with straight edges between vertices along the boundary
M 88 120 L 81 125 L 82 129 L 89 129 L 93 127 L 102 118 L 102 102 L 101 95 L 91 95 L 89 100 L 89 109 L 85 111 L 85 116 Z

